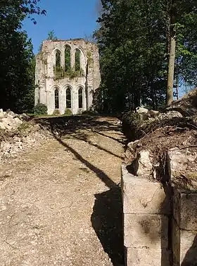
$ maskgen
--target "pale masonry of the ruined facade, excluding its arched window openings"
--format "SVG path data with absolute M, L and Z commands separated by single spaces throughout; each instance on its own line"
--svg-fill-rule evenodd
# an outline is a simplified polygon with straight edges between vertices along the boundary
M 82 75 L 73 77 L 63 76 L 56 78 L 54 67 L 56 67 L 56 52 L 61 53 L 61 68 L 64 71 L 65 47 L 70 47 L 70 69 L 75 71 L 75 52 L 80 50 L 80 70 Z M 46 104 L 48 114 L 53 114 L 55 110 L 55 89 L 59 93 L 59 111 L 65 113 L 66 89 L 71 89 L 72 114 L 77 114 L 83 110 L 94 109 L 93 97 L 95 90 L 101 82 L 99 68 L 98 48 L 91 42 L 84 40 L 46 40 L 42 44 L 42 51 L 36 56 L 35 83 L 35 104 L 38 102 Z M 83 90 L 83 105 L 79 108 L 78 90 Z

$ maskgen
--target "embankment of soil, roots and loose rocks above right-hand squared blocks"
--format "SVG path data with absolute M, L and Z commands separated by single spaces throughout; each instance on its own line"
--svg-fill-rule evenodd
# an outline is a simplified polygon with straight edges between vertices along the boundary
M 129 172 L 196 190 L 197 90 L 162 112 L 139 107 L 125 114 L 122 128 L 130 140 L 125 152 Z

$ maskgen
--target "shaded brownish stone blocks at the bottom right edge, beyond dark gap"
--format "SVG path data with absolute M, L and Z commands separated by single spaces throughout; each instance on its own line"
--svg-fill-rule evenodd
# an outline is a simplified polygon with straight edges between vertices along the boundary
M 197 265 L 197 194 L 174 189 L 172 217 L 173 266 Z

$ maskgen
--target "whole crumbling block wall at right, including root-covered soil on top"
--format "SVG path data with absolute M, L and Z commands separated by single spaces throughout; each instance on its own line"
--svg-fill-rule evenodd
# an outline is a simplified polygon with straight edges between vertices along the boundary
M 196 116 L 134 116 L 122 165 L 125 265 L 197 265 Z

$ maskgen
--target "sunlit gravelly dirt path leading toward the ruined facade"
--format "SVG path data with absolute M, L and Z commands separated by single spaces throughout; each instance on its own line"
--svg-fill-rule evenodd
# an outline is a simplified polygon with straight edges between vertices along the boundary
M 68 123 L 0 167 L 0 266 L 123 265 L 117 119 Z

